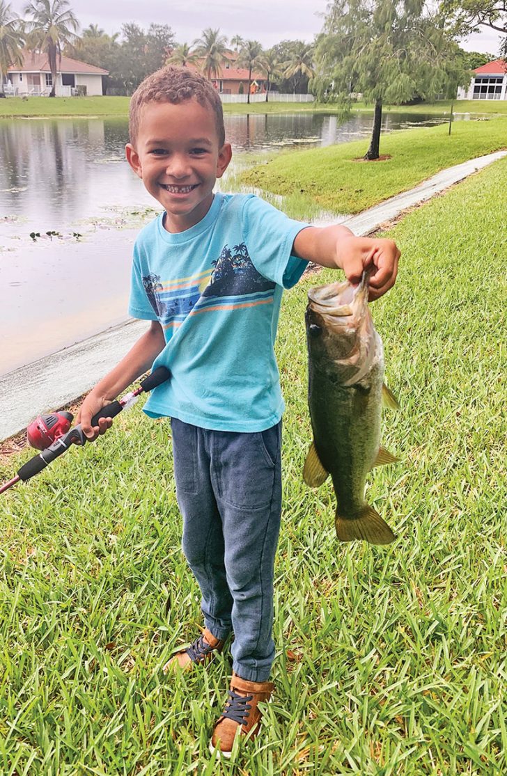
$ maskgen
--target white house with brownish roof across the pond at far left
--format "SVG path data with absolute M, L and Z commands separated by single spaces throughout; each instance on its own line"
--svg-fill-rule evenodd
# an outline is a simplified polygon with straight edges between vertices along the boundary
M 57 57 L 57 97 L 75 94 L 102 95 L 102 77 L 107 70 L 70 57 Z M 53 79 L 47 54 L 25 51 L 21 67 L 12 64 L 5 74 L 5 94 L 49 95 Z

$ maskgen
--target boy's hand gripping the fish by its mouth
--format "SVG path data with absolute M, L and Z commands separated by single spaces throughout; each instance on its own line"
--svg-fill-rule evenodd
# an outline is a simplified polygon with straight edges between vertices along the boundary
M 388 291 L 396 280 L 400 251 L 392 240 L 380 237 L 340 237 L 336 242 L 336 263 L 347 280 L 359 283 L 365 269 L 371 269 L 370 301 Z

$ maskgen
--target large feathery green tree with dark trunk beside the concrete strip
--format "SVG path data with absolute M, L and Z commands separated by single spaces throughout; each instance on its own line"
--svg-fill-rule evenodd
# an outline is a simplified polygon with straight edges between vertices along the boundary
M 373 103 L 365 159 L 380 156 L 384 105 L 455 95 L 470 80 L 457 44 L 424 0 L 334 0 L 314 60 L 318 99 L 350 105 L 359 92 Z

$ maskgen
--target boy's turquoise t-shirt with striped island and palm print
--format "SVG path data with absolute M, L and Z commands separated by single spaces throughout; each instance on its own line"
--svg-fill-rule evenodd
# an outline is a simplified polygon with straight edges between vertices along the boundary
M 284 288 L 307 262 L 292 255 L 306 223 L 253 195 L 214 195 L 206 216 L 177 234 L 164 213 L 134 246 L 129 314 L 158 320 L 165 348 L 153 369 L 172 376 L 144 405 L 216 431 L 264 431 L 284 404 L 273 345 Z

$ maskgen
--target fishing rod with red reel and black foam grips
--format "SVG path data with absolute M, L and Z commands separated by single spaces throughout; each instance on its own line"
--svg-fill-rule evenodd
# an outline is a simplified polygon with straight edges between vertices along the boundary
M 106 404 L 106 407 L 102 407 L 102 410 L 99 410 L 92 417 L 92 426 L 96 426 L 101 417 L 116 417 L 123 410 L 132 407 L 141 393 L 146 393 L 161 383 L 165 383 L 165 380 L 169 379 L 170 376 L 171 372 L 165 366 L 159 366 L 158 369 L 151 372 L 151 375 L 141 381 L 137 390 L 130 391 L 121 399 L 116 399 L 111 404 Z M 16 485 L 19 480 L 23 480 L 23 482 L 30 480 L 30 477 L 45 469 L 51 461 L 67 452 L 72 445 L 84 445 L 87 442 L 81 423 L 70 428 L 72 420 L 71 413 L 64 411 L 36 417 L 36 420 L 27 428 L 27 438 L 32 447 L 40 449 L 42 452 L 23 464 L 12 480 L 0 487 L 0 493 L 9 490 L 9 487 Z

